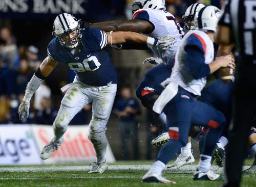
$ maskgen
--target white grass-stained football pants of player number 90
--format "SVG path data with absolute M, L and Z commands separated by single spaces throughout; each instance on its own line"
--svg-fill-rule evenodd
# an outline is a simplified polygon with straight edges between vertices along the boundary
M 69 122 L 88 103 L 92 102 L 92 120 L 90 122 L 89 139 L 94 145 L 97 162 L 105 161 L 108 140 L 105 136 L 106 123 L 109 120 L 114 103 L 117 84 L 93 87 L 78 82 L 75 78 L 61 100 L 60 109 L 53 123 L 55 139 L 61 139 Z

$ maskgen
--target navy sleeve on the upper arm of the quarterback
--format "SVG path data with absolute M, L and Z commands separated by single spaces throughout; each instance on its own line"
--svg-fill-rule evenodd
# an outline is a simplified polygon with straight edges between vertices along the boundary
M 186 69 L 196 79 L 203 78 L 210 74 L 210 67 L 205 64 L 204 53 L 197 46 L 189 45 L 186 51 Z

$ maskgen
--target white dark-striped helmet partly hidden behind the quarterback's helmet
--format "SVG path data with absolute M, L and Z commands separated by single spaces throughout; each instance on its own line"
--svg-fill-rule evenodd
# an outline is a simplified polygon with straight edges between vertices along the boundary
M 182 16 L 183 23 L 184 23 L 186 31 L 196 29 L 194 18 L 195 18 L 196 15 L 198 15 L 198 12 L 203 7 L 205 7 L 205 6 L 201 3 L 194 3 L 194 4 L 190 5 L 187 8 L 185 14 Z

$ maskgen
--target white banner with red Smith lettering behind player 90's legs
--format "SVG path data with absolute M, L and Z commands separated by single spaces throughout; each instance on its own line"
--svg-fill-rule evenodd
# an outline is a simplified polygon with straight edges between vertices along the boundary
M 39 150 L 53 138 L 53 129 L 49 125 L 32 125 Z M 89 125 L 71 125 L 64 135 L 64 141 L 53 155 L 44 160 L 44 164 L 56 163 L 91 163 L 96 159 L 93 144 L 88 139 Z M 115 162 L 115 157 L 108 144 L 106 150 L 108 163 Z

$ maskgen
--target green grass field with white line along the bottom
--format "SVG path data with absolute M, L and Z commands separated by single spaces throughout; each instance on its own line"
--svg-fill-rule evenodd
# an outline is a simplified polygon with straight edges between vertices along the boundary
M 252 164 L 252 160 L 245 165 Z M 108 172 L 87 174 L 88 164 L 45 166 L 1 166 L 0 186 L 168 186 L 171 184 L 141 183 L 141 177 L 152 162 L 117 162 L 110 164 Z M 164 176 L 176 181 L 173 186 L 220 186 L 221 181 L 193 181 L 196 165 L 184 166 L 180 171 L 164 172 Z M 222 169 L 214 166 L 217 173 Z M 222 175 L 223 176 L 223 175 Z M 256 186 L 256 174 L 244 174 L 242 186 Z

